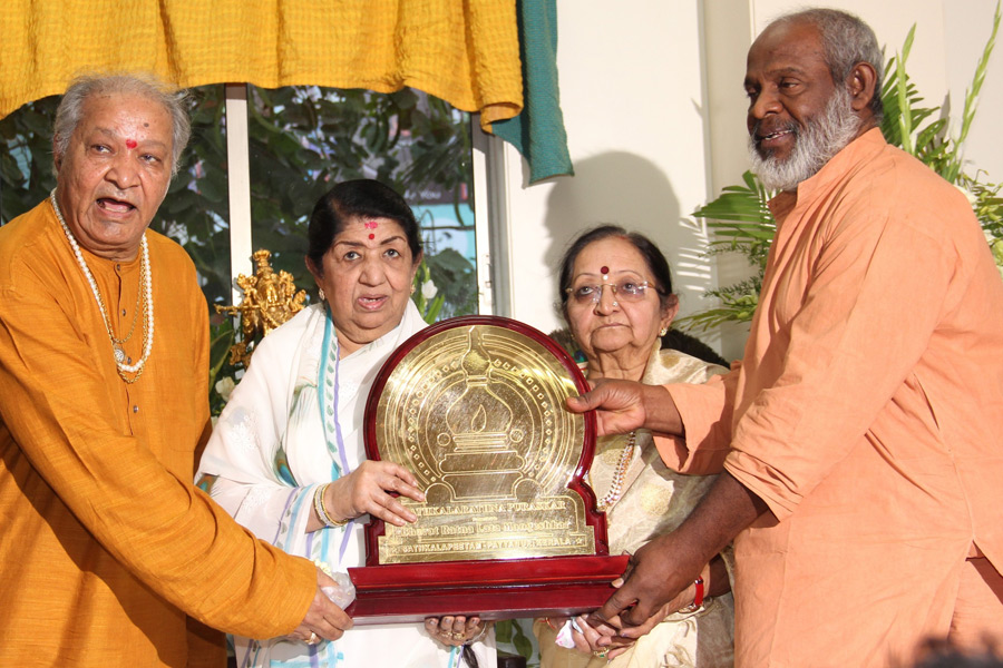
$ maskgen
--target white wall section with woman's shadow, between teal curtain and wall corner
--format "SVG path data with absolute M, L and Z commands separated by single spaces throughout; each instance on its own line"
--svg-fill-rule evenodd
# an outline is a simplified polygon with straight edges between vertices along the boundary
M 633 14 L 633 16 L 632 16 Z M 684 307 L 711 285 L 703 229 L 683 217 L 707 198 L 700 3 L 558 2 L 561 100 L 575 176 L 526 185 L 506 148 L 510 311 L 549 332 L 556 269 L 581 229 L 613 222 L 668 253 Z M 498 312 L 505 314 L 504 305 Z

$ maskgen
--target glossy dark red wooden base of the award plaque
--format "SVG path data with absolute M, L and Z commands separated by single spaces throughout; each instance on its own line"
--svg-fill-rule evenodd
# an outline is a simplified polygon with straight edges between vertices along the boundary
M 398 623 L 442 615 L 481 619 L 566 617 L 602 607 L 629 557 L 539 557 L 350 568 L 356 622 Z

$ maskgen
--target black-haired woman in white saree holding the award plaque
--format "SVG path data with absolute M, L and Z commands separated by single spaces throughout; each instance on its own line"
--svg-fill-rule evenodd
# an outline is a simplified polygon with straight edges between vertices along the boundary
M 380 366 L 426 326 L 410 299 L 421 245 L 410 207 L 369 179 L 339 184 L 321 198 L 309 243 L 321 303 L 259 344 L 196 480 L 259 538 L 345 572 L 364 562 L 368 514 L 398 525 L 417 519 L 390 492 L 425 500 L 408 470 L 367 460 L 362 446 L 362 414 Z M 496 661 L 487 625 L 461 616 L 357 627 L 333 642 L 234 637 L 233 650 L 241 668 Z

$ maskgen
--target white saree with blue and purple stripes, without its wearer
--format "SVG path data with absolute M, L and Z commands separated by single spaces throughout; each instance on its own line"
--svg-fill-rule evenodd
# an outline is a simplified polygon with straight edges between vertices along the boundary
M 304 308 L 259 344 L 220 415 L 196 481 L 237 522 L 286 552 L 331 571 L 362 566 L 368 515 L 344 528 L 308 533 L 313 492 L 364 459 L 362 416 L 369 390 L 390 354 L 425 326 L 409 301 L 395 330 L 339 358 L 325 307 Z M 240 667 L 449 668 L 457 662 L 457 652 L 415 623 L 360 627 L 337 642 L 317 646 L 281 638 L 234 637 L 233 642 Z M 481 667 L 493 666 L 494 644 L 478 645 Z

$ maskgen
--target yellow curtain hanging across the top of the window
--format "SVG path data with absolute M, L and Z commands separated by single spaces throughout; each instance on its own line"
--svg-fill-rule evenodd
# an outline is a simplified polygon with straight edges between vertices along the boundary
M 3 0 L 0 118 L 81 71 L 181 87 L 423 90 L 481 125 L 523 107 L 515 0 Z

